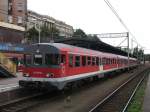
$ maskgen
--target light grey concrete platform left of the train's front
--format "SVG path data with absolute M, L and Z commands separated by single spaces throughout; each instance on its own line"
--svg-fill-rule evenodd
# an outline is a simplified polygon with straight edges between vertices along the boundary
M 22 73 L 17 73 L 15 78 L 1 78 L 0 79 L 0 92 L 9 91 L 19 88 L 18 81 L 22 79 Z

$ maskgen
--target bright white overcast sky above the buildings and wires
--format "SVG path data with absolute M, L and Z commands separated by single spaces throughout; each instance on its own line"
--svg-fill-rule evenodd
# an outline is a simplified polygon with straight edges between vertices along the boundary
M 150 0 L 109 1 L 137 41 L 145 49 L 150 49 Z M 74 29 L 81 28 L 87 34 L 127 31 L 104 0 L 28 0 L 28 9 L 64 21 Z M 103 41 L 115 46 L 121 42 L 117 39 Z M 150 53 L 150 50 L 145 50 L 145 53 Z

